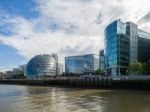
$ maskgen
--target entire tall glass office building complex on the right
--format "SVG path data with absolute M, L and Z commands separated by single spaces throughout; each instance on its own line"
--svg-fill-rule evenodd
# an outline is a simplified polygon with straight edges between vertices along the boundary
M 116 20 L 105 29 L 107 74 L 128 74 L 129 63 L 150 59 L 150 34 L 132 22 Z

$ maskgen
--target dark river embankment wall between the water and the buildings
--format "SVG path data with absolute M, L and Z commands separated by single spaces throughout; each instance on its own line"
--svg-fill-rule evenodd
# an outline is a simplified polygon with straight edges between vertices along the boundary
M 150 80 L 0 80 L 1 84 L 106 90 L 150 90 Z

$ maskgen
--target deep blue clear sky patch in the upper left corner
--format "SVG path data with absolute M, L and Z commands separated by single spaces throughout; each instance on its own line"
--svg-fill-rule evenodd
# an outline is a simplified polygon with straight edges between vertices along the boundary
M 13 15 L 32 19 L 38 16 L 34 0 L 0 0 L 0 9 Z

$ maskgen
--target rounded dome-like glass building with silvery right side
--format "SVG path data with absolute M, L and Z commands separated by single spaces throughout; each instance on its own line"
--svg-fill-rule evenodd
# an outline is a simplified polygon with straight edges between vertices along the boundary
M 55 54 L 36 55 L 26 65 L 25 76 L 55 76 L 57 75 L 58 57 Z

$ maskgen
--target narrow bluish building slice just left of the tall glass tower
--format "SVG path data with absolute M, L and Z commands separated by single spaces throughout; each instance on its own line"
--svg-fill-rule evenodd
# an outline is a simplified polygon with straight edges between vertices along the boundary
M 104 54 L 104 50 L 100 50 L 99 51 L 99 68 L 100 70 L 105 70 L 105 54 Z

